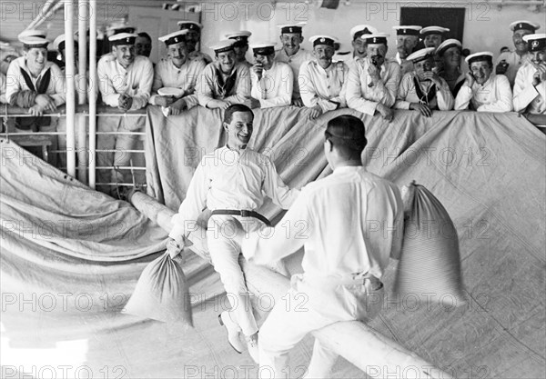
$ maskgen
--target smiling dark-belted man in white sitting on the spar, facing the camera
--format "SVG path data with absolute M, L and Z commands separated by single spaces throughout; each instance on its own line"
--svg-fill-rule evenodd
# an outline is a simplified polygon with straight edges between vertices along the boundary
M 173 216 L 169 237 L 178 250 L 195 226 L 204 208 L 212 211 L 207 224 L 210 259 L 226 289 L 232 309 L 220 314 L 227 328 L 229 344 L 240 354 L 245 335 L 248 353 L 258 362 L 258 325 L 249 304 L 245 277 L 238 264 L 240 245 L 235 232 L 257 231 L 268 220 L 256 210 L 265 195 L 284 209 L 294 202 L 299 191 L 290 190 L 277 174 L 267 155 L 247 148 L 252 135 L 254 114 L 246 105 L 230 105 L 224 115 L 227 145 L 203 156 L 187 189 L 186 199 Z M 194 229 L 195 230 L 195 229 Z

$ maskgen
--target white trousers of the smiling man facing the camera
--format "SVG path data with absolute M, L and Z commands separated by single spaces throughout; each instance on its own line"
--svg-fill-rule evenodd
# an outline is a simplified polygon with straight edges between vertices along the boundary
M 235 235 L 237 229 L 253 232 L 261 225 L 262 223 L 254 217 L 224 214 L 212 215 L 207 223 L 208 252 L 215 271 L 220 274 L 220 280 L 231 304 L 229 316 L 245 335 L 258 332 L 258 324 L 250 302 L 245 275 L 238 263 L 241 246 Z

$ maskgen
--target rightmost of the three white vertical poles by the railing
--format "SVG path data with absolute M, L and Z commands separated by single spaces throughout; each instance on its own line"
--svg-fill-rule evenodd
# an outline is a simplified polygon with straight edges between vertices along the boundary
M 89 0 L 89 186 L 96 183 L 96 0 Z

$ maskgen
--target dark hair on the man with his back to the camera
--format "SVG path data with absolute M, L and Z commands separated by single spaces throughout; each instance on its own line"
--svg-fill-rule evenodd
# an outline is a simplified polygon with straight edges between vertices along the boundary
M 324 136 L 341 155 L 355 159 L 368 144 L 365 133 L 364 123 L 358 117 L 339 115 L 329 121 Z

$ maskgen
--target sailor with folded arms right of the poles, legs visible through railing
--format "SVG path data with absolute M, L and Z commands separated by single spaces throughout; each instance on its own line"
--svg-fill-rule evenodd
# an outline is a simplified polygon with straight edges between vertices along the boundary
M 98 87 L 106 105 L 122 111 L 144 108 L 150 98 L 154 80 L 152 62 L 144 55 L 136 55 L 136 34 L 120 33 L 110 36 L 112 54 L 104 55 L 96 67 Z M 136 132 L 144 127 L 145 117 L 100 116 L 97 119 L 99 132 Z M 128 166 L 131 154 L 138 145 L 138 135 L 97 135 L 99 149 L 116 150 L 98 153 L 98 166 Z M 124 175 L 125 174 L 125 175 Z M 98 170 L 97 182 L 132 183 L 130 171 Z M 115 194 L 115 192 L 111 192 Z

